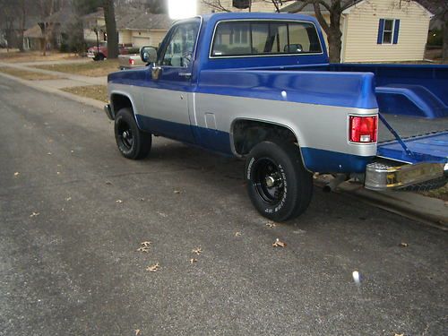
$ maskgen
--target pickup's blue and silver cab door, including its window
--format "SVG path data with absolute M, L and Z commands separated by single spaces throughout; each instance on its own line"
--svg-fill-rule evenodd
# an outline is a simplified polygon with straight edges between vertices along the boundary
M 188 96 L 194 47 L 201 21 L 179 23 L 168 31 L 159 49 L 158 62 L 149 67 L 149 86 L 144 93 L 144 128 L 183 142 L 194 142 Z

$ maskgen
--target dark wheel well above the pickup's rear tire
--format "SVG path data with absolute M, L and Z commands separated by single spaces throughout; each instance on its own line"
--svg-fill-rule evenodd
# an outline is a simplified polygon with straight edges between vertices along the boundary
M 245 156 L 259 142 L 280 139 L 297 143 L 296 135 L 287 127 L 254 120 L 237 120 L 232 127 L 233 146 L 238 155 Z

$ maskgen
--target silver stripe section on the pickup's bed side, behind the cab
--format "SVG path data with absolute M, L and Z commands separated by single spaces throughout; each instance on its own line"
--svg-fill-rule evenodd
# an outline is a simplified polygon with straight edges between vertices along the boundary
M 376 144 L 349 143 L 349 115 L 375 115 L 377 112 L 376 108 L 340 108 L 204 93 L 196 93 L 194 111 L 201 127 L 206 126 L 205 113 L 213 113 L 217 129 L 227 133 L 234 120 L 260 120 L 288 127 L 296 134 L 301 147 L 361 156 L 375 156 Z

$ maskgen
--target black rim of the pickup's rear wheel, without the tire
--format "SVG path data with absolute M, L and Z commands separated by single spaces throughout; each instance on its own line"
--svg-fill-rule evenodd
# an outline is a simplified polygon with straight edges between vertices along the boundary
M 283 176 L 279 165 L 272 159 L 257 159 L 254 162 L 254 186 L 257 194 L 270 205 L 278 204 L 285 193 Z

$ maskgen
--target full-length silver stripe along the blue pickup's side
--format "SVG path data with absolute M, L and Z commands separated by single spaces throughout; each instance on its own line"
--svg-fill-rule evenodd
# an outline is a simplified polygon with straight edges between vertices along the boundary
M 349 143 L 349 115 L 375 115 L 377 108 L 343 108 L 284 100 L 254 99 L 218 94 L 109 83 L 109 95 L 125 93 L 134 113 L 168 122 L 206 128 L 205 114 L 213 114 L 219 131 L 231 134 L 237 119 L 259 120 L 284 125 L 296 134 L 301 147 L 375 156 L 376 143 Z M 182 99 L 181 99 L 182 97 Z M 279 97 L 281 92 L 279 92 Z M 230 135 L 229 135 L 230 136 Z

